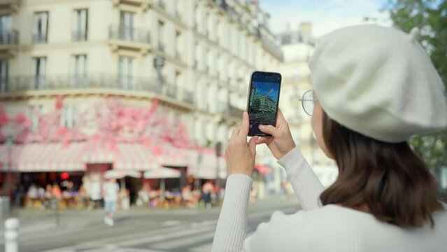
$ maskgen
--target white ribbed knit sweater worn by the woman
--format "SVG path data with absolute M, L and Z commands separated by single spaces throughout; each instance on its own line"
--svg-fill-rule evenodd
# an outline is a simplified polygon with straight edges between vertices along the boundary
M 301 207 L 295 214 L 279 211 L 247 237 L 250 176 L 232 174 L 213 241 L 220 251 L 447 251 L 447 211 L 434 213 L 434 228 L 404 229 L 382 223 L 371 214 L 336 205 L 320 207 L 323 187 L 297 148 L 278 163 L 285 168 Z M 409 195 L 411 197 L 411 195 Z M 411 199 L 410 199 L 411 200 Z

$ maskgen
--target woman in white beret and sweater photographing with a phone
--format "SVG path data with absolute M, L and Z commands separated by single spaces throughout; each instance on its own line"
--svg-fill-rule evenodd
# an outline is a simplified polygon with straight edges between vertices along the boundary
M 325 189 L 278 112 L 270 138 L 247 143 L 248 115 L 227 147 L 226 195 L 212 251 L 446 251 L 447 212 L 414 134 L 447 127 L 444 85 L 416 42 L 376 25 L 346 27 L 320 39 L 309 66 L 315 90 L 302 99 L 322 151 L 339 176 Z M 246 234 L 256 144 L 285 168 L 302 211 L 276 212 Z

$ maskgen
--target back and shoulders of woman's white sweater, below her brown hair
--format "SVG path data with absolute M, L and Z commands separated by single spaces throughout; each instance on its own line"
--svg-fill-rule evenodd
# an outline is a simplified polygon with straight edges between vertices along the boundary
M 244 251 L 445 251 L 447 211 L 433 214 L 434 228 L 403 229 L 371 214 L 327 205 L 285 215 L 276 212 L 244 242 Z

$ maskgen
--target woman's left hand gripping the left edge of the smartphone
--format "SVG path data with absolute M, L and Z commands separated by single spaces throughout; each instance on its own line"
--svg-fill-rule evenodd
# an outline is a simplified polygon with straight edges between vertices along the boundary
M 225 156 L 229 174 L 247 174 L 251 176 L 255 167 L 256 144 L 258 137 L 252 137 L 247 143 L 248 113 L 243 112 L 242 126 L 232 132 Z

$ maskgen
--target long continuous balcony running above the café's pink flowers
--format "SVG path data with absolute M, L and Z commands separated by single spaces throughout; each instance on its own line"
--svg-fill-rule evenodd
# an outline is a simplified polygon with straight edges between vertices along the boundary
M 183 99 L 177 99 L 183 93 Z M 120 76 L 113 73 L 83 73 L 51 76 L 11 76 L 0 79 L 0 99 L 3 97 L 48 96 L 60 94 L 113 94 L 132 97 L 157 97 L 163 102 L 183 109 L 192 109 L 194 94 L 175 85 L 138 76 Z M 150 95 L 152 94 L 152 95 Z M 166 99 L 170 97 L 171 99 Z

